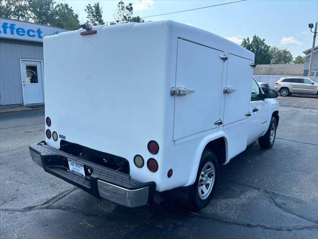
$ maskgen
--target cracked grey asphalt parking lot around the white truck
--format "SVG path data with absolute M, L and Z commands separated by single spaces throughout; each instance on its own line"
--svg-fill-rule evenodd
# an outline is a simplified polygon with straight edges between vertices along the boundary
M 272 149 L 257 142 L 220 169 L 210 204 L 125 208 L 48 174 L 28 145 L 44 110 L 0 114 L 0 238 L 318 238 L 318 98 L 279 97 Z

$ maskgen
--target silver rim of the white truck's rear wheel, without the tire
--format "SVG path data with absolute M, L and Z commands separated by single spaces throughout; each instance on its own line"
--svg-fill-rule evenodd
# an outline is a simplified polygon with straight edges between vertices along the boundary
M 201 199 L 206 199 L 212 192 L 215 181 L 215 167 L 212 162 L 207 162 L 201 170 L 198 193 Z

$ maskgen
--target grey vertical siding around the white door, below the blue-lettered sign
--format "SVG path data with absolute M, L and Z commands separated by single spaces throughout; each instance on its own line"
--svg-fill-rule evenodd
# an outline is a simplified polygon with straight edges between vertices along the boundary
M 0 105 L 23 104 L 21 58 L 43 60 L 42 44 L 0 39 Z

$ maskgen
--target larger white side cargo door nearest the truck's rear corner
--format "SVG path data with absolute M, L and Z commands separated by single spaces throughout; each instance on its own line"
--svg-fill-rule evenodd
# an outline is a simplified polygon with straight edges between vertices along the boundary
M 174 96 L 173 140 L 217 127 L 224 52 L 178 39 L 175 89 L 194 91 Z

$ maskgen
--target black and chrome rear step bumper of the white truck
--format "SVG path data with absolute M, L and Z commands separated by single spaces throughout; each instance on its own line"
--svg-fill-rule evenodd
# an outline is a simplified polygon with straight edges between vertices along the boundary
M 147 205 L 154 198 L 155 182 L 137 182 L 132 180 L 128 174 L 50 147 L 43 141 L 31 144 L 29 149 L 32 160 L 43 167 L 46 172 L 98 198 L 131 208 Z M 86 176 L 71 172 L 68 159 L 82 164 Z

